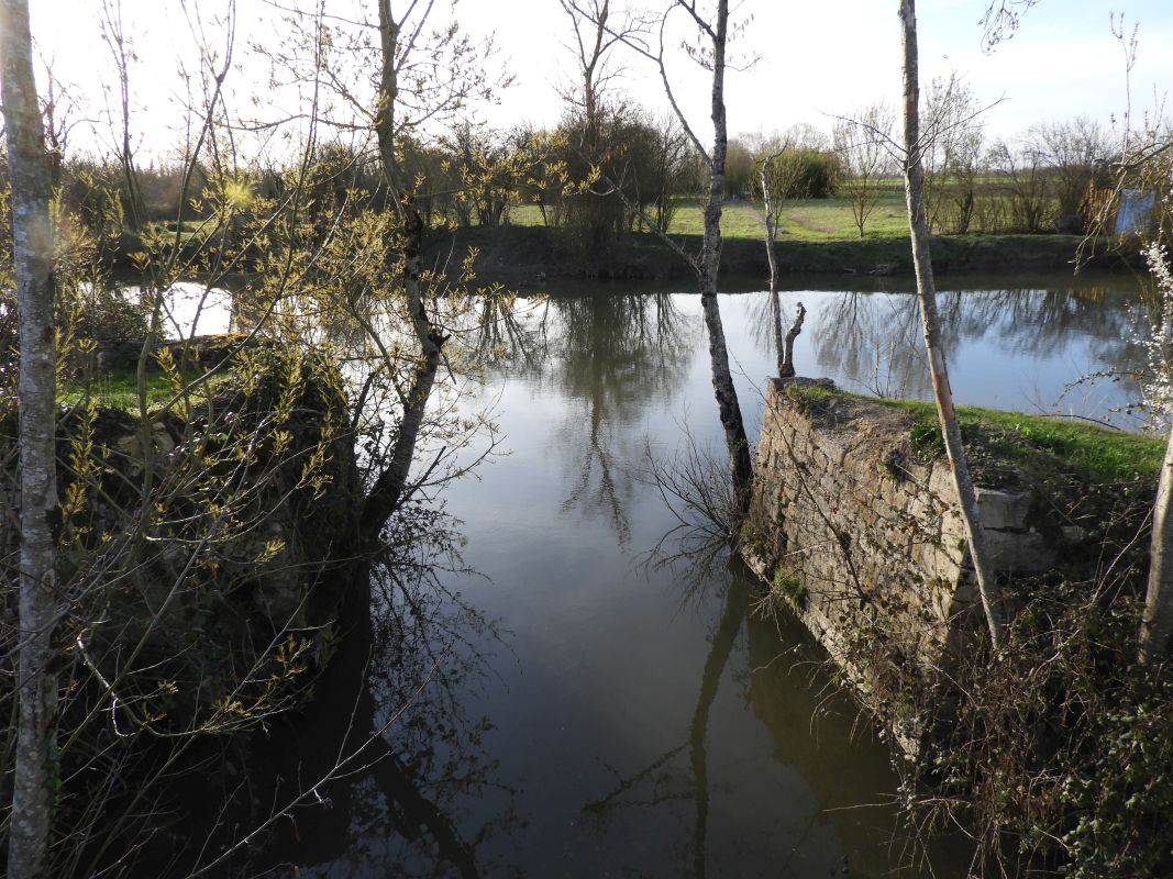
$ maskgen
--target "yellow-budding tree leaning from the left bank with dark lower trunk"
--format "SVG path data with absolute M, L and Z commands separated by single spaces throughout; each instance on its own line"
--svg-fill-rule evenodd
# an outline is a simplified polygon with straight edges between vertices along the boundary
M 323 294 L 332 299 L 327 308 L 360 328 L 366 346 L 360 357 L 369 375 L 360 382 L 355 417 L 381 425 L 368 437 L 375 445 L 358 512 L 360 541 L 368 546 L 378 545 L 382 526 L 419 486 L 412 464 L 435 413 L 446 345 L 473 307 L 470 297 L 456 295 L 465 267 L 446 272 L 423 264 L 432 230 L 422 205 L 434 189 L 453 184 L 421 171 L 412 156 L 436 143 L 439 132 L 466 125 L 470 104 L 495 100 L 507 84 L 493 73 L 491 41 L 473 40 L 456 21 L 442 19 L 443 6 L 368 0 L 354 15 L 340 16 L 305 4 L 286 19 L 287 46 L 270 55 L 320 96 L 307 135 L 337 137 L 355 162 L 377 169 L 377 193 L 343 197 L 348 233 L 362 253 L 358 258 L 339 248 L 333 265 L 339 277 L 352 272 L 353 278 Z M 386 390 L 379 404 L 369 396 L 375 389 Z

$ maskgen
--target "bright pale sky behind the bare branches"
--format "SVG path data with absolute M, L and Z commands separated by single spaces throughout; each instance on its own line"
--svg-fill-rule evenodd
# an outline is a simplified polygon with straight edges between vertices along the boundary
M 273 2 L 237 0 L 238 69 L 233 93 L 266 101 L 267 68 L 249 47 L 277 45 Z M 642 0 L 651 6 L 657 0 Z M 178 70 L 192 63 L 189 21 L 198 12 L 218 15 L 226 0 L 122 0 L 138 61 L 133 76 L 136 136 L 148 151 L 174 139 L 184 86 Z M 364 0 L 332 0 L 339 9 Z M 1039 0 L 1013 39 L 992 53 L 982 50 L 986 0 L 920 0 L 922 88 L 934 76 L 956 71 L 983 104 L 991 137 L 1013 138 L 1031 124 L 1091 116 L 1110 123 L 1128 104 L 1125 61 L 1110 27 L 1110 11 L 1123 13 L 1125 30 L 1139 23 L 1137 62 L 1131 73 L 1134 117 L 1157 108 L 1173 87 L 1173 0 Z M 373 6 L 372 0 L 366 1 Z M 399 8 L 401 4 L 396 4 Z M 101 41 L 101 0 L 30 0 L 40 55 L 74 96 L 77 118 L 100 118 L 110 104 L 115 80 Z M 747 69 L 731 70 L 726 104 L 731 134 L 771 132 L 806 122 L 829 129 L 836 115 L 866 104 L 899 105 L 900 29 L 896 0 L 734 0 L 734 18 L 746 21 L 732 50 Z M 449 5 L 436 4 L 447 15 Z M 563 105 L 558 83 L 572 75 L 567 48 L 569 20 L 557 0 L 459 0 L 455 14 L 465 30 L 493 35 L 496 60 L 515 77 L 481 118 L 496 127 L 518 122 L 550 125 Z M 213 33 L 215 28 L 209 28 Z M 666 109 L 655 69 L 624 54 L 621 87 L 650 111 Z M 677 53 L 669 69 L 682 107 L 704 139 L 708 87 Z M 274 103 L 277 98 L 271 98 Z M 91 135 L 79 128 L 75 141 Z

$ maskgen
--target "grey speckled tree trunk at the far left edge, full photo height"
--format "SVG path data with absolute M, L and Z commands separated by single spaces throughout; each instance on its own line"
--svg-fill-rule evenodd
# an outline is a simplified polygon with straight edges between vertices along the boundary
M 0 0 L 0 77 L 20 312 L 20 708 L 8 874 L 28 879 L 45 873 L 50 829 L 57 710 L 52 642 L 60 605 L 60 510 L 54 461 L 56 352 L 49 162 L 33 79 L 26 0 Z

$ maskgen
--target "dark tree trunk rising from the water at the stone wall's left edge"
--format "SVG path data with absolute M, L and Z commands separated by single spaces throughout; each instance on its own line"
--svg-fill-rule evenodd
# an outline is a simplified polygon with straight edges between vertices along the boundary
M 728 137 L 725 129 L 725 39 L 728 26 L 728 0 L 717 5 L 717 27 L 713 38 L 713 155 L 708 179 L 708 204 L 705 205 L 705 238 L 700 252 L 700 307 L 708 331 L 708 357 L 713 372 L 713 393 L 725 444 L 730 452 L 733 473 L 733 495 L 738 510 L 744 515 L 750 509 L 750 492 L 753 483 L 753 462 L 750 459 L 750 443 L 741 420 L 741 407 L 733 376 L 730 373 L 728 352 L 725 347 L 725 328 L 717 304 L 717 273 L 721 258 L 721 192 L 725 189 L 725 152 Z

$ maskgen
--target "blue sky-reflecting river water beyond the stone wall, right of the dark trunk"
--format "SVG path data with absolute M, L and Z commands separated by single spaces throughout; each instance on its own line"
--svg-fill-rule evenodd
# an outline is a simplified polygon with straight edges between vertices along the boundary
M 799 340 L 800 374 L 827 375 L 848 389 L 889 397 L 931 396 L 916 300 L 906 291 L 804 291 L 812 312 Z M 1137 427 L 1126 414 L 1145 368 L 1137 338 L 1146 321 L 1137 294 L 1121 288 L 1004 288 L 938 294 L 942 336 L 961 403 L 1053 411 Z M 768 293 L 750 308 L 755 345 L 775 350 Z

